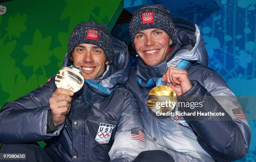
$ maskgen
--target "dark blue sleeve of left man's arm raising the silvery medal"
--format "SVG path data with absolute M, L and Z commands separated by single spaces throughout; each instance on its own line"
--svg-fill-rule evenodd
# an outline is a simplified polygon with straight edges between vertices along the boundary
M 63 124 L 46 133 L 49 98 L 56 90 L 54 79 L 0 110 L 0 143 L 17 144 L 50 139 L 59 134 Z

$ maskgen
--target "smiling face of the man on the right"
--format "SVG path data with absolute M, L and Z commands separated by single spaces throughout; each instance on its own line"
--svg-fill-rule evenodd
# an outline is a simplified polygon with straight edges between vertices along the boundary
M 172 40 L 161 29 L 139 31 L 134 38 L 136 52 L 148 66 L 156 66 L 169 55 Z

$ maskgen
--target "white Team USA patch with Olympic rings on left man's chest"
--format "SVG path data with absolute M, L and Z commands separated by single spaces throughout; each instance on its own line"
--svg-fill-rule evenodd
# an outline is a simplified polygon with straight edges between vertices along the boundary
M 112 131 L 114 128 L 115 128 L 115 125 L 113 124 L 100 123 L 100 127 L 98 129 L 95 140 L 99 144 L 107 144 L 110 140 L 110 137 L 112 135 Z

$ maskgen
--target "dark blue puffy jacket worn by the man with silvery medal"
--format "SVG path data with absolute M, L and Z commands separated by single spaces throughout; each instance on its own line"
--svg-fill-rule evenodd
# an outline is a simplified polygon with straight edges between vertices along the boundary
M 131 139 L 132 130 L 143 131 L 136 99 L 125 84 L 128 79 L 127 46 L 113 38 L 115 58 L 101 78 L 94 82 L 113 89 L 109 96 L 102 96 L 84 84 L 82 91 L 72 97 L 72 105 L 64 124 L 46 133 L 49 98 L 56 90 L 54 77 L 40 88 L 0 110 L 0 143 L 18 144 L 42 141 L 44 150 L 57 161 L 132 161 L 146 149 L 145 142 Z M 68 63 L 65 57 L 64 65 Z M 96 142 L 108 132 L 105 144 Z M 110 132 L 110 133 L 109 133 Z M 106 133 L 104 134 L 106 135 Z M 102 142 L 102 141 L 101 141 Z M 76 156 L 76 159 L 72 159 Z

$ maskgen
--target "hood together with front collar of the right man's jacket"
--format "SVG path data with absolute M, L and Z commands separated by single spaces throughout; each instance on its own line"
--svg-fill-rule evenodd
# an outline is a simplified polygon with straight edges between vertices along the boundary
M 178 29 L 177 42 L 169 57 L 157 66 L 147 66 L 138 58 L 136 63 L 137 76 L 144 82 L 149 78 L 159 78 L 164 75 L 169 66 L 177 66 L 182 60 L 208 66 L 208 53 L 198 26 L 190 21 L 173 17 L 174 26 Z

